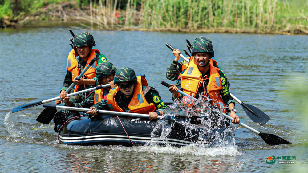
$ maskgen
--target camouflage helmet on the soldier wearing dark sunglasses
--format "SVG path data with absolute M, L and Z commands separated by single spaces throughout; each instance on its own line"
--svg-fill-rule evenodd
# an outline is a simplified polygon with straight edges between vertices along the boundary
M 137 82 L 137 77 L 134 69 L 122 67 L 115 72 L 114 84 L 120 82 Z

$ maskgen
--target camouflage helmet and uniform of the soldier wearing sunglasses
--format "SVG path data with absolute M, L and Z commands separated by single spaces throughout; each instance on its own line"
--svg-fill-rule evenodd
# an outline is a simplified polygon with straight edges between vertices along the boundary
M 115 73 L 114 84 L 131 81 L 137 82 L 136 73 L 133 69 L 129 67 L 124 67 L 118 69 L 118 71 Z M 145 91 L 146 88 L 146 86 L 142 86 L 143 91 Z M 132 97 L 133 94 L 126 98 L 122 92 L 117 92 L 117 94 L 115 95 L 115 101 L 118 103 L 120 108 L 122 108 L 125 112 L 128 112 L 128 104 L 130 103 Z M 145 94 L 144 97 L 149 104 L 153 103 L 155 105 L 155 111 L 163 111 L 165 109 L 166 104 L 163 102 L 163 100 L 161 100 L 159 93 L 153 87 L 150 87 L 150 90 Z M 110 109 L 107 100 L 105 99 L 101 100 L 97 104 L 94 104 L 93 107 L 101 110 Z

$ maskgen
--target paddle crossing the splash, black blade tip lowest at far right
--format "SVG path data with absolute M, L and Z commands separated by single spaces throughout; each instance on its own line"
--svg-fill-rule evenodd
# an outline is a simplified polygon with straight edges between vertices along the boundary
M 171 87 L 170 84 L 168 84 L 167 82 L 165 81 L 161 81 L 161 84 L 166 86 L 166 87 Z M 190 96 L 188 94 L 186 94 L 185 92 L 181 91 L 181 90 L 178 90 L 178 92 L 184 96 Z M 194 98 L 194 97 L 193 97 Z M 196 98 L 194 98 L 195 100 L 197 100 Z M 232 117 L 231 116 L 228 116 L 224 113 L 222 113 L 222 115 L 226 118 L 228 118 L 229 120 L 232 121 Z M 249 127 L 248 125 L 244 124 L 244 123 L 239 123 L 240 126 L 244 127 L 244 128 L 247 128 L 248 130 L 256 133 L 257 135 L 261 136 L 261 138 L 264 140 L 264 142 L 266 144 L 269 144 L 269 145 L 280 145 L 280 144 L 292 144 L 290 143 L 289 141 L 285 140 L 285 139 L 282 139 L 281 137 L 279 136 L 276 136 L 276 135 L 273 135 L 273 134 L 269 134 L 269 133 L 261 133 L 251 127 Z

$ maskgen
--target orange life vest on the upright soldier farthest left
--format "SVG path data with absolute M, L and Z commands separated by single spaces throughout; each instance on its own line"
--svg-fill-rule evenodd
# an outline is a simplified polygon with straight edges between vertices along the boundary
M 93 58 L 96 58 L 96 53 L 100 54 L 98 49 L 91 49 L 90 56 L 88 57 L 88 60 L 87 60 L 87 65 L 89 65 L 90 61 Z M 71 52 L 68 54 L 68 57 L 67 57 L 66 68 L 69 72 L 72 73 L 72 80 L 74 80 L 75 77 L 80 75 L 80 69 L 79 69 L 79 66 L 78 66 L 78 61 L 76 60 L 76 56 L 77 56 L 77 53 L 75 53 L 75 50 L 72 49 Z M 97 61 L 95 61 L 95 65 L 97 66 Z M 95 68 L 93 68 L 91 66 L 87 70 L 87 72 L 84 73 L 84 76 L 87 77 L 87 79 L 92 79 L 93 77 L 96 77 Z M 79 88 L 79 86 L 76 85 L 74 92 L 77 92 L 78 88 Z

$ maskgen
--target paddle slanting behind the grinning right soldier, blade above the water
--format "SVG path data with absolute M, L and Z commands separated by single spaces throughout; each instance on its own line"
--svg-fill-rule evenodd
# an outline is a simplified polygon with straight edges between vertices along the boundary
M 166 43 L 166 46 L 173 51 L 174 48 L 170 44 Z M 185 61 L 189 62 L 189 60 L 184 55 L 180 54 L 180 57 L 183 58 Z M 239 104 L 241 104 L 246 116 L 248 116 L 251 120 L 253 120 L 253 122 L 258 124 L 259 126 L 263 126 L 270 120 L 270 116 L 262 112 L 260 109 L 252 105 L 241 102 L 241 100 L 237 99 L 231 93 L 230 95 L 234 100 L 236 100 Z

